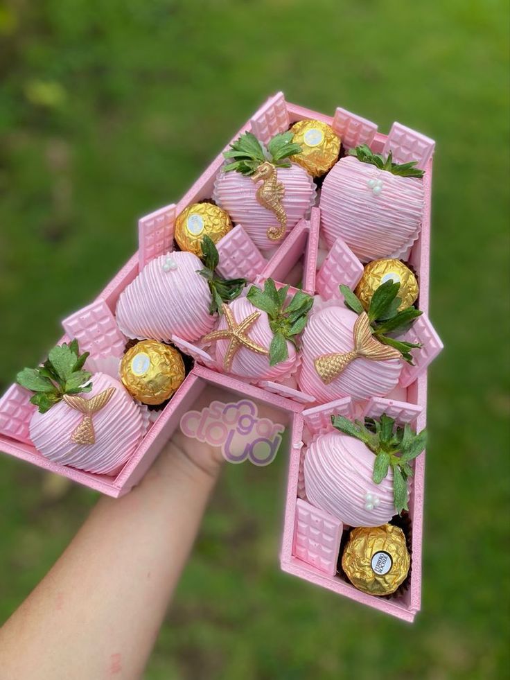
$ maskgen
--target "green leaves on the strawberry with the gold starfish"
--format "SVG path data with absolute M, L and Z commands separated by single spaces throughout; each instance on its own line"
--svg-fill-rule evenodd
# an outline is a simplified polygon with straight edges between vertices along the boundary
M 289 286 L 277 289 L 273 279 L 266 279 L 264 289 L 252 286 L 247 298 L 258 309 L 265 311 L 269 317 L 273 338 L 270 345 L 270 366 L 288 358 L 287 341 L 296 344 L 296 337 L 301 333 L 308 320 L 308 312 L 313 306 L 313 297 L 298 290 L 287 302 Z

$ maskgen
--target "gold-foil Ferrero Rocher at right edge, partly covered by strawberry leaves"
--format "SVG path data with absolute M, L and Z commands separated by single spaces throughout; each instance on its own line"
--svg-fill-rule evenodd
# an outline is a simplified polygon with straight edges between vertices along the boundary
M 373 260 L 365 265 L 363 275 L 354 291 L 365 309 L 368 310 L 373 293 L 388 279 L 401 284 L 398 297 L 402 302 L 398 311 L 410 307 L 416 301 L 418 281 L 409 267 L 400 260 Z

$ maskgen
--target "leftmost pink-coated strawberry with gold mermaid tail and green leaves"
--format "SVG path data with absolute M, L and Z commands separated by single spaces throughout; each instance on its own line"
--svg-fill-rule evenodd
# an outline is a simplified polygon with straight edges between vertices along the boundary
M 140 444 L 146 419 L 119 381 L 82 370 L 87 356 L 73 340 L 53 348 L 42 367 L 17 375 L 39 407 L 30 439 L 53 462 L 115 475 Z

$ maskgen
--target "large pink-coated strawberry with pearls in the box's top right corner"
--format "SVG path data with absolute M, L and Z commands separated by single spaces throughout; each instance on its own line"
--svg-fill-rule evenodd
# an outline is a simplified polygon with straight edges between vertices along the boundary
M 421 229 L 425 193 L 415 162 L 396 164 L 366 144 L 349 151 L 322 185 L 321 232 L 329 247 L 341 236 L 367 262 L 401 257 Z

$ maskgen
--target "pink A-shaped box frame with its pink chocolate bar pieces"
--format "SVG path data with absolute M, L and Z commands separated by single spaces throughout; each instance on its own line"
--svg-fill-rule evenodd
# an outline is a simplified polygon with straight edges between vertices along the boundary
M 397 162 L 411 159 L 425 170 L 425 211 L 419 238 L 403 254 L 403 259 L 414 268 L 419 280 L 419 308 L 423 316 L 408 331 L 407 340 L 422 344 L 414 354 L 414 366 L 405 366 L 401 380 L 387 398 L 373 397 L 367 402 L 354 403 L 350 397 L 322 406 L 315 399 L 294 389 L 294 386 L 271 381 L 252 385 L 232 376 L 218 373 L 211 357 L 199 347 L 173 337 L 173 342 L 194 360 L 193 368 L 168 405 L 159 412 L 134 455 L 115 477 L 87 473 L 47 460 L 30 442 L 28 424 L 35 410 L 28 403 L 28 392 L 19 385 L 11 385 L 0 400 L 0 448 L 10 455 L 32 462 L 43 469 L 66 476 L 82 485 L 109 496 L 126 494 L 141 480 L 162 446 L 179 426 L 182 415 L 193 408 L 204 387 L 218 385 L 224 394 L 239 399 L 244 396 L 259 406 L 272 410 L 274 419 L 290 433 L 283 454 L 288 455 L 289 473 L 285 502 L 285 521 L 281 547 L 281 568 L 335 593 L 367 604 L 403 620 L 412 621 L 421 602 L 421 545 L 423 523 L 423 482 L 425 453 L 414 461 L 414 481 L 409 503 L 410 548 L 412 570 L 407 589 L 394 598 L 377 598 L 355 589 L 337 573 L 337 559 L 344 527 L 332 515 L 310 505 L 306 500 L 303 481 L 304 442 L 313 435 L 331 428 L 330 416 L 378 417 L 384 412 L 398 422 L 409 422 L 416 430 L 425 427 L 427 399 L 427 367 L 442 349 L 441 341 L 428 321 L 428 286 L 430 255 L 430 200 L 432 182 L 432 154 L 434 142 L 422 134 L 394 123 L 385 136 L 377 125 L 337 108 L 335 115 L 325 116 L 285 101 L 282 93 L 270 98 L 234 136 L 251 130 L 266 142 L 274 134 L 287 130 L 301 119 L 317 119 L 332 125 L 346 148 L 367 143 L 373 152 L 393 152 Z M 77 338 L 82 351 L 92 358 L 123 354 L 126 338 L 116 325 L 114 310 L 121 291 L 137 276 L 148 261 L 173 250 L 175 217 L 188 204 L 213 194 L 213 184 L 224 162 L 222 153 L 206 168 L 201 177 L 177 204 L 170 204 L 139 220 L 139 252 L 110 281 L 94 302 L 62 322 L 64 338 Z M 229 277 L 243 276 L 260 283 L 267 277 L 288 281 L 296 263 L 301 262 L 301 287 L 322 300 L 338 297 L 340 283 L 355 286 L 362 274 L 362 263 L 349 247 L 337 239 L 324 252 L 320 265 L 320 211 L 312 208 L 310 216 L 301 220 L 272 256 L 263 256 L 246 234 L 242 225 L 224 236 L 217 244 L 220 253 L 220 273 Z M 287 451 L 285 451 L 285 448 Z M 281 449 L 282 451 L 282 449 Z

